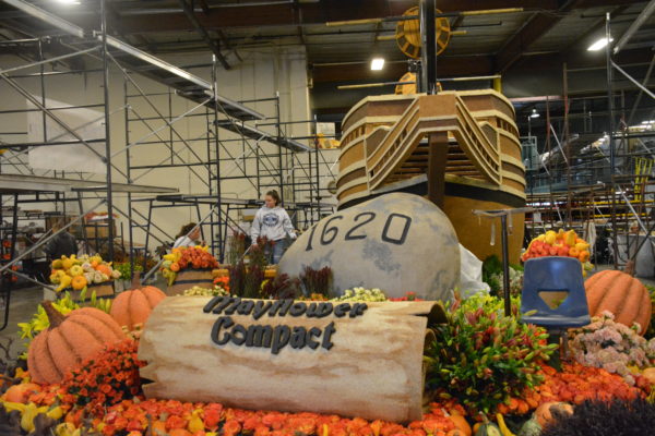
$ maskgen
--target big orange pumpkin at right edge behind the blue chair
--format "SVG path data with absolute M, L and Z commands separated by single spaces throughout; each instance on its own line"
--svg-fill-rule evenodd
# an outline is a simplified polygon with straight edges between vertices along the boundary
M 590 315 L 608 311 L 615 320 L 632 326 L 639 323 L 643 335 L 651 324 L 651 296 L 648 290 L 634 277 L 616 270 L 596 272 L 584 282 Z

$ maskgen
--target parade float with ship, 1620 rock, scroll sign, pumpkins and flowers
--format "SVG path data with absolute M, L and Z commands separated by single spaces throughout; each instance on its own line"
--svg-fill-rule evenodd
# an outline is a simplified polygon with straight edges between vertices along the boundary
M 66 279 L 21 324 L 26 354 L 4 350 L 0 434 L 548 436 L 590 423 L 598 435 L 652 434 L 655 294 L 639 280 L 592 275 L 588 324 L 558 343 L 523 322 L 521 266 L 505 301 L 457 284 L 460 243 L 483 259 L 500 250 L 472 209 L 525 198 L 513 117 L 492 90 L 369 97 L 344 121 L 342 209 L 298 238 L 276 274 L 237 235 L 227 265 L 204 247 L 166 254 L 175 295 L 135 280 L 115 300 L 78 302 Z M 426 147 L 444 164 L 428 173 L 439 155 Z M 434 184 L 441 208 L 421 196 Z M 515 227 L 519 261 L 521 216 Z M 526 265 L 545 258 L 576 263 L 581 283 L 590 269 L 574 232 L 523 253 Z

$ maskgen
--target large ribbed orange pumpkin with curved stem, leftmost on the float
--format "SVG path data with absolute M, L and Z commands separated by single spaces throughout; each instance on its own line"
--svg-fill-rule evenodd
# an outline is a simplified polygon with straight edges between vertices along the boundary
M 43 306 L 50 327 L 32 340 L 27 355 L 36 383 L 61 383 L 82 361 L 126 337 L 114 318 L 97 308 L 76 308 L 63 316 L 49 301 Z

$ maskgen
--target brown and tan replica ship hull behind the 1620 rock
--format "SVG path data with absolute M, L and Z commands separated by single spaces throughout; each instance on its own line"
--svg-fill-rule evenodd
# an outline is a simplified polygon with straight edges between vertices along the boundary
M 480 220 L 473 210 L 525 206 L 514 119 L 511 102 L 493 89 L 362 99 L 342 124 L 340 209 L 389 192 L 428 195 L 462 245 L 480 259 L 500 257 L 500 220 Z M 523 214 L 513 216 L 511 262 L 519 261 L 523 221 Z

